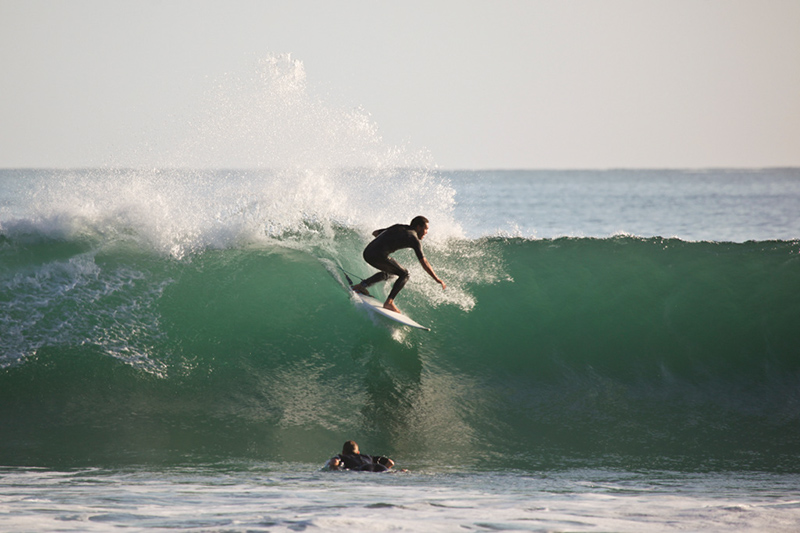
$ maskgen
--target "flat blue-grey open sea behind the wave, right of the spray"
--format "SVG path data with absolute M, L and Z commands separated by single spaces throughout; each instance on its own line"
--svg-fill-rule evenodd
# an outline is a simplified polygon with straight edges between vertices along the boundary
M 797 169 L 448 173 L 469 236 L 793 240 Z

